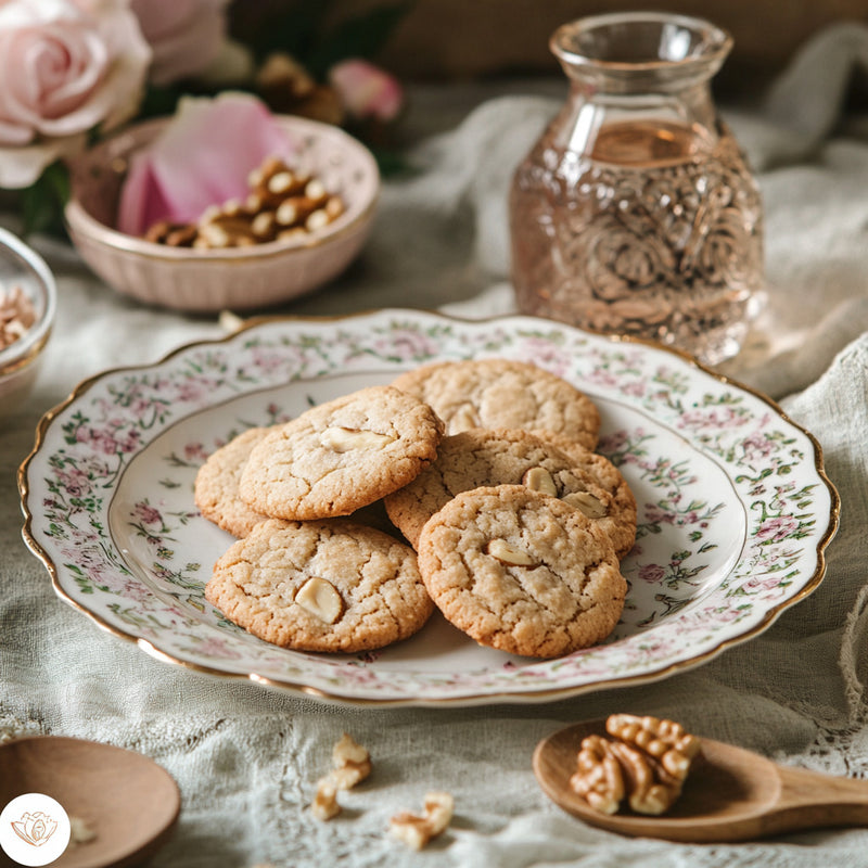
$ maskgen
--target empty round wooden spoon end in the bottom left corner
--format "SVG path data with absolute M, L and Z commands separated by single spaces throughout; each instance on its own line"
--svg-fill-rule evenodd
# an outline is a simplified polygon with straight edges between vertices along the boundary
M 59 736 L 0 746 L 0 807 L 31 792 L 55 799 L 93 833 L 71 842 L 52 868 L 139 865 L 165 843 L 181 807 L 173 778 L 146 756 Z M 3 858 L 0 852 L 0 865 L 13 865 Z

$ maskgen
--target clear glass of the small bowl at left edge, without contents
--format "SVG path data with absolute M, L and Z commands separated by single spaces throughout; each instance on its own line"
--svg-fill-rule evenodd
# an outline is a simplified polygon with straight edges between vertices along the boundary
M 17 341 L 0 349 L 0 423 L 24 401 L 36 375 L 54 324 L 58 286 L 54 276 L 36 251 L 0 228 L 0 285 L 29 296 L 36 321 Z

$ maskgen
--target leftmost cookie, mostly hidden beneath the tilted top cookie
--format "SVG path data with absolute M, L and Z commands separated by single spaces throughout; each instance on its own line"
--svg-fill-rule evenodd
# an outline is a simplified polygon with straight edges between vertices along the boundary
M 254 446 L 272 427 L 252 427 L 212 452 L 196 473 L 193 500 L 202 515 L 232 536 L 246 536 L 267 516 L 250 507 L 239 495 L 241 472 Z

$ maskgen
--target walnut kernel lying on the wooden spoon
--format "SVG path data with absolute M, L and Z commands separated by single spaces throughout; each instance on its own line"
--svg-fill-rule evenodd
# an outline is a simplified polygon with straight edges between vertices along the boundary
M 681 794 L 700 740 L 658 717 L 615 714 L 605 728 L 613 738 L 583 739 L 573 791 L 604 814 L 618 810 L 624 799 L 637 814 L 665 814 Z

